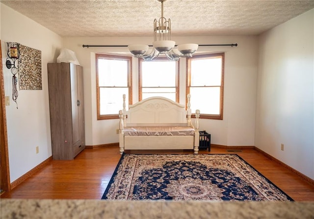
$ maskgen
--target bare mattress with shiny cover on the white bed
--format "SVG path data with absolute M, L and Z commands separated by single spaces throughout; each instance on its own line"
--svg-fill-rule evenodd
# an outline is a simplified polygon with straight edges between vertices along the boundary
M 124 136 L 194 136 L 194 129 L 187 126 L 124 127 Z

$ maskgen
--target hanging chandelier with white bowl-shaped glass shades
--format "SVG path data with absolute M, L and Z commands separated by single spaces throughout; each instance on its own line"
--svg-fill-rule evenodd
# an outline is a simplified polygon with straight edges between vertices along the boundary
M 198 45 L 194 43 L 181 44 L 175 47 L 176 42 L 171 40 L 171 22 L 170 18 L 166 20 L 163 17 L 163 2 L 166 0 L 157 0 L 161 2 L 161 17 L 154 20 L 154 42 L 153 50 L 148 53 L 148 45 L 133 44 L 128 48 L 131 54 L 136 58 L 143 58 L 151 61 L 159 54 L 166 55 L 171 60 L 179 60 L 180 57 L 192 57 L 196 52 Z

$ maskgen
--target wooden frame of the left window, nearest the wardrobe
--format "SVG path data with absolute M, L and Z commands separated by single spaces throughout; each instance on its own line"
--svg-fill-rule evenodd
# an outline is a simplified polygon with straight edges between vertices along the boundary
M 115 87 L 115 86 L 99 86 L 99 72 L 98 72 L 98 60 L 99 59 L 111 59 L 111 60 L 126 60 L 128 61 L 128 88 L 129 88 L 129 105 L 132 104 L 132 57 L 123 55 L 106 55 L 96 54 L 96 95 L 97 95 L 97 120 L 103 119 L 118 119 L 119 113 L 116 114 L 100 114 L 100 88 L 101 87 Z M 122 96 L 121 96 L 121 100 Z M 123 108 L 121 104 L 121 109 Z

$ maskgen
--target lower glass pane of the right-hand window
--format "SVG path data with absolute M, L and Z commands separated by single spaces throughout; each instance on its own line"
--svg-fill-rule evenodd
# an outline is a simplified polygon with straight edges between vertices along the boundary
M 220 113 L 220 87 L 190 87 L 191 110 L 199 109 L 201 114 Z

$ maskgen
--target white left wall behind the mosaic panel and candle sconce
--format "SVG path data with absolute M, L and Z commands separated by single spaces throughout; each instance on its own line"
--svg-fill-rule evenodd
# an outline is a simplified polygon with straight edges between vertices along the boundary
M 47 63 L 53 62 L 62 48 L 62 38 L 45 27 L 0 3 L 1 47 L 6 106 L 10 181 L 52 156 Z M 42 90 L 19 90 L 18 108 L 12 101 L 12 74 L 5 66 L 6 42 L 17 42 L 40 50 Z M 36 146 L 39 153 L 36 154 Z

